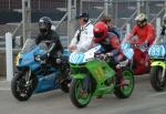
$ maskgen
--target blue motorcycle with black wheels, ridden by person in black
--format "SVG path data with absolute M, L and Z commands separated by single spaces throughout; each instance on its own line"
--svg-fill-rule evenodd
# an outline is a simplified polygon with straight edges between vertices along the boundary
M 35 44 L 28 39 L 17 56 L 17 73 L 11 81 L 12 95 L 19 101 L 28 101 L 33 93 L 42 93 L 56 89 L 69 92 L 70 52 L 64 50 L 59 61 L 59 69 L 46 62 L 43 55 L 49 50 L 46 42 Z M 63 72 L 63 75 L 61 74 Z

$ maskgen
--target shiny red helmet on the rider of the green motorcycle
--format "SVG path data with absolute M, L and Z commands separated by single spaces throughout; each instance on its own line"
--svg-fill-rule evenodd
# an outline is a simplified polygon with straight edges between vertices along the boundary
M 104 22 L 97 22 L 94 25 L 93 33 L 94 33 L 93 41 L 95 43 L 98 43 L 98 42 L 103 41 L 104 39 L 106 39 L 106 35 L 107 35 L 106 24 Z

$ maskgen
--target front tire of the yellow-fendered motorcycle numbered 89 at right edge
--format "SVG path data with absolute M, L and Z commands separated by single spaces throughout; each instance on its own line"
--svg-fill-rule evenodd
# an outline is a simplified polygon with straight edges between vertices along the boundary
M 151 70 L 151 85 L 153 89 L 157 92 L 162 92 L 165 90 L 166 85 L 166 77 L 164 77 L 164 81 L 160 81 L 163 68 L 160 66 L 154 66 Z

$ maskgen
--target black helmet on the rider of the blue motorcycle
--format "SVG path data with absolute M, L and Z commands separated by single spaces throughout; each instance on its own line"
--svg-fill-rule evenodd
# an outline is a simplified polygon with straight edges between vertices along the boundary
M 49 17 L 42 17 L 39 20 L 39 29 L 41 33 L 48 33 L 51 31 L 52 21 Z

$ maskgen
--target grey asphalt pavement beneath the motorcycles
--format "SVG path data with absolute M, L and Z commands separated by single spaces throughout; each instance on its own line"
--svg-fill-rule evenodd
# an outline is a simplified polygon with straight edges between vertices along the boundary
M 60 90 L 34 94 L 28 102 L 19 102 L 11 95 L 10 83 L 0 81 L 0 114 L 166 114 L 165 110 L 166 92 L 155 92 L 148 75 L 135 77 L 129 99 L 120 100 L 114 94 L 94 97 L 81 110 Z

